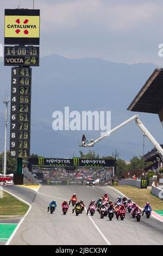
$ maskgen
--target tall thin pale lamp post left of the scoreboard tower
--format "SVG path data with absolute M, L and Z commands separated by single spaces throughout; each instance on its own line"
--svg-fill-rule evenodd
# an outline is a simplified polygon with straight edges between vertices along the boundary
M 5 104 L 5 123 L 4 123 L 4 163 L 3 163 L 3 174 L 6 175 L 7 167 L 7 125 L 8 125 L 8 103 L 9 97 L 6 96 L 3 100 Z

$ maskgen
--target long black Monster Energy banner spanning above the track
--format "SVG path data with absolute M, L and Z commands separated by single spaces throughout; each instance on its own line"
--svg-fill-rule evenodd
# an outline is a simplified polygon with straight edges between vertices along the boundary
M 79 159 L 74 157 L 73 159 L 55 159 L 55 158 L 45 158 L 37 157 L 28 159 L 29 165 L 37 166 L 92 166 L 92 167 L 113 167 L 115 166 L 115 160 L 108 159 Z

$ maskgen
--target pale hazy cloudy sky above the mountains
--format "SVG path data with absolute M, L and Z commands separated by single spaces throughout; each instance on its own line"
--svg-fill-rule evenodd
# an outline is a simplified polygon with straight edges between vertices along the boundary
M 18 0 L 0 0 L 0 41 L 4 9 Z M 20 0 L 33 8 L 33 0 Z M 41 56 L 97 57 L 122 63 L 151 62 L 163 66 L 162 0 L 35 0 L 41 9 Z

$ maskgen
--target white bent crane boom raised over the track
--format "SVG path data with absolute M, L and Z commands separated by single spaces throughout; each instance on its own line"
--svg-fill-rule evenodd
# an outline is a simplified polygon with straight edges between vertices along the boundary
M 161 159 L 163 160 L 163 149 L 161 148 L 160 144 L 155 140 L 155 138 L 151 135 L 151 133 L 147 130 L 147 128 L 142 124 L 142 122 L 139 119 L 139 115 L 137 114 L 127 119 L 122 124 L 116 126 L 114 129 L 111 129 L 110 131 L 106 132 L 103 136 L 95 139 L 95 141 L 85 144 L 84 147 L 93 147 L 93 145 L 95 145 L 97 142 L 101 141 L 105 137 L 108 137 L 109 135 L 111 135 L 111 133 L 117 131 L 118 129 L 120 129 L 121 127 L 130 123 L 130 121 L 133 121 L 133 120 L 135 120 L 135 123 L 140 127 L 142 132 L 148 137 L 149 141 L 152 142 L 156 150 L 158 150 L 158 153 L 160 154 Z

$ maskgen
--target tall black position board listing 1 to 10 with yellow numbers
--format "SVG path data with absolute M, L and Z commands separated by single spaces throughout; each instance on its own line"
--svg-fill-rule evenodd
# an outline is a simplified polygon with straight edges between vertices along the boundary
M 31 68 L 12 68 L 10 156 L 30 155 Z

